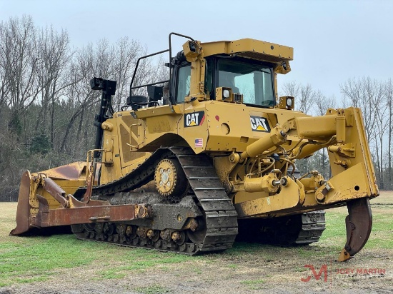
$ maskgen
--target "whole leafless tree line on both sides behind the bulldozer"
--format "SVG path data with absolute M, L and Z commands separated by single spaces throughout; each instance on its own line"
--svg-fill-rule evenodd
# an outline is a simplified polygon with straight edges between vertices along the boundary
M 146 51 L 146 46 L 128 37 L 115 44 L 101 39 L 75 48 L 66 30 L 37 27 L 31 16 L 0 22 L 0 201 L 16 201 L 21 173 L 27 168 L 44 171 L 86 160 L 86 151 L 94 146 L 93 122 L 100 99 L 99 91 L 91 91 L 90 79 L 117 81 L 113 97 L 117 111 L 129 95 L 136 61 Z M 135 83 L 165 76 L 163 63 L 144 59 Z M 352 104 L 364 111 L 379 186 L 391 189 L 387 146 L 392 141 L 392 81 L 349 79 L 341 89 L 343 106 Z M 309 85 L 287 83 L 282 91 L 296 97 L 297 108 L 306 113 L 321 115 L 335 106 L 334 98 Z M 305 168 L 328 174 L 325 151 L 314 158 Z

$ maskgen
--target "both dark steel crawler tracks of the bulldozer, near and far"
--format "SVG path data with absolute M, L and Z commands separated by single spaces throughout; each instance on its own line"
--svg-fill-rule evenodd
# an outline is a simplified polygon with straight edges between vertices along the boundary
M 280 218 L 242 219 L 239 220 L 237 236 L 237 212 L 225 193 L 209 156 L 195 155 L 190 148 L 160 148 L 141 166 L 119 181 L 94 187 L 93 195 L 100 196 L 102 200 L 109 200 L 108 196 L 112 196 L 111 199 L 124 198 L 125 192 L 152 181 L 155 166 L 164 158 L 177 158 L 189 181 L 191 189 L 186 197 L 191 197 L 202 212 L 202 216 L 197 218 L 197 230 L 176 230 L 170 227 L 167 230 L 156 230 L 151 223 L 130 221 L 73 225 L 72 229 L 76 236 L 85 240 L 106 241 L 131 247 L 197 254 L 231 248 L 235 238 L 278 245 L 307 245 L 317 242 L 325 229 L 324 211 L 315 211 Z M 84 188 L 80 188 L 76 195 L 83 195 L 84 191 Z M 134 202 L 130 196 L 128 202 L 121 204 Z M 159 214 L 160 211 L 155 213 Z M 175 231 L 179 233 L 179 240 L 171 238 L 171 233 Z

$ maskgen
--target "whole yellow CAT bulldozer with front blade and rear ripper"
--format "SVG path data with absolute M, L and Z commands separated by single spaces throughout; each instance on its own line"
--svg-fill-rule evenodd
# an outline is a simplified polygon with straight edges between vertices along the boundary
M 172 54 L 172 39 L 186 41 Z M 136 84 L 139 64 L 169 52 L 169 78 Z M 174 55 L 174 56 L 173 56 Z M 114 111 L 116 81 L 101 91 L 86 161 L 21 177 L 16 228 L 31 235 L 71 227 L 77 238 L 194 255 L 237 238 L 317 242 L 324 210 L 347 206 L 339 261 L 369 238 L 379 195 L 359 108 L 295 111 L 277 94 L 293 48 L 256 39 L 202 43 L 169 34 L 169 49 L 136 63 L 129 97 Z M 327 149 L 329 178 L 296 162 Z

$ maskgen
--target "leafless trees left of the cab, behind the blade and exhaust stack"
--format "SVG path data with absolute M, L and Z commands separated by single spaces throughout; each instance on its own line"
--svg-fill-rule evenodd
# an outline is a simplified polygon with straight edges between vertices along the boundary
M 31 16 L 0 22 L 0 201 L 16 201 L 27 168 L 86 160 L 100 99 L 90 79 L 117 81 L 113 106 L 119 110 L 144 55 L 146 47 L 128 37 L 74 48 L 66 30 L 39 28 Z M 135 81 L 149 83 L 157 74 L 158 66 L 144 59 Z

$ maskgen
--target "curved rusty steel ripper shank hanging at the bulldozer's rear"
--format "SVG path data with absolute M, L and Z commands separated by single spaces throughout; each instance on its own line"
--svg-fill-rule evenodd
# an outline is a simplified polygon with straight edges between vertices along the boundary
M 359 198 L 347 203 L 348 216 L 347 243 L 342 249 L 338 261 L 347 261 L 359 252 L 369 239 L 372 228 L 372 213 L 369 198 Z

